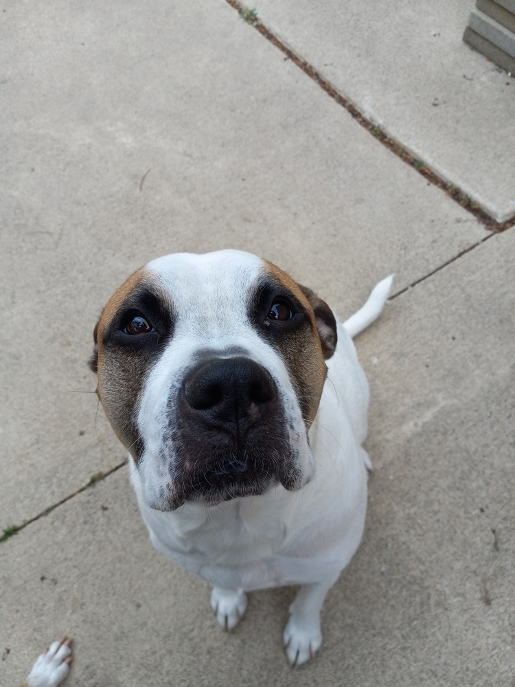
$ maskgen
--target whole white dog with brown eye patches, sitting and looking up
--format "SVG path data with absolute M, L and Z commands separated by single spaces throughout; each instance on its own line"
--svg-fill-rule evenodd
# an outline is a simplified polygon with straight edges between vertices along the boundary
M 130 276 L 95 328 L 98 395 L 150 539 L 213 585 L 225 629 L 245 592 L 301 585 L 291 664 L 319 649 L 323 600 L 363 534 L 369 392 L 352 335 L 390 285 L 342 326 L 270 262 L 174 254 Z

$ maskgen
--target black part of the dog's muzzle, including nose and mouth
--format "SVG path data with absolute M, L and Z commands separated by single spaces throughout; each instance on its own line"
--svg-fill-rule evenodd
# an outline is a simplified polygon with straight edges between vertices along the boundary
M 216 504 L 298 482 L 277 384 L 249 358 L 210 359 L 187 372 L 170 438 L 174 502 Z

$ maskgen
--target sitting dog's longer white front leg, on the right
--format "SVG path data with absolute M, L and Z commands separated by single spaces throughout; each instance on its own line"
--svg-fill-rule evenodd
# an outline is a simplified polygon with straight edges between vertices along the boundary
M 291 666 L 310 660 L 320 649 L 322 633 L 320 611 L 325 595 L 338 576 L 302 585 L 290 606 L 290 619 L 284 628 L 284 645 Z

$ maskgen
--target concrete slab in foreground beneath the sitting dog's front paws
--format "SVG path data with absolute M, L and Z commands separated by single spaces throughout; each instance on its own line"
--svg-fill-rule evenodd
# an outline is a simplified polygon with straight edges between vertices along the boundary
M 375 472 L 317 660 L 292 671 L 282 655 L 290 589 L 252 594 L 223 633 L 207 587 L 152 549 L 124 468 L 0 544 L 1 683 L 67 633 L 70 684 L 84 687 L 511 687 L 514 258 L 512 229 L 397 297 L 357 341 Z

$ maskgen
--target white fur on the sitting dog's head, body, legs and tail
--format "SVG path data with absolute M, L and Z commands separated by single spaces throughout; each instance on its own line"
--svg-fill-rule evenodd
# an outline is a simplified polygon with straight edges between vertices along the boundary
M 272 268 L 274 280 L 282 280 L 301 300 L 304 296 L 297 285 L 291 285 L 295 282 Z M 393 277 L 376 286 L 358 313 L 337 324 L 338 343 L 326 360 L 328 374 L 318 409 L 306 425 L 291 372 L 292 365 L 302 365 L 302 361 L 286 364 L 281 350 L 266 339 L 266 329 L 256 332 L 256 326 L 249 323 L 249 289 L 255 280 L 270 273 L 268 263 L 240 251 L 179 254 L 151 262 L 133 282 L 126 282 L 121 295 L 115 295 L 114 305 L 106 307 L 98 346 L 102 346 L 102 337 L 107 343 L 104 352 L 98 352 L 94 369 L 98 362 L 99 394 L 124 440 L 113 420 L 115 412 L 110 412 L 108 392 L 102 390 L 102 385 L 112 383 L 111 370 L 117 369 L 117 363 L 102 362 L 102 356 L 112 355 L 108 353 L 108 322 L 115 320 L 113 313 L 123 308 L 121 303 L 141 281 L 158 284 L 160 293 L 169 294 L 178 324 L 148 367 L 138 392 L 135 431 L 144 450 L 139 460 L 130 456 L 130 478 L 150 539 L 161 552 L 212 585 L 211 607 L 225 629 L 236 627 L 244 615 L 246 592 L 301 585 L 284 629 L 288 661 L 298 665 L 321 646 L 323 601 L 363 534 L 367 467 L 371 468 L 362 446 L 367 435 L 369 390 L 352 336 L 378 317 Z M 321 339 L 324 326 L 317 321 Z M 313 330 L 316 337 L 317 330 Z M 315 343 L 320 348 L 320 343 Z M 244 350 L 271 375 L 295 456 L 297 482 L 293 486 L 273 484 L 264 493 L 216 504 L 186 499 L 179 507 L 166 505 L 168 486 L 163 488 L 163 484 L 170 481 L 180 458 L 174 453 L 173 439 L 164 438 L 170 413 L 179 412 L 173 390 L 181 386 L 196 353 L 206 346 Z

